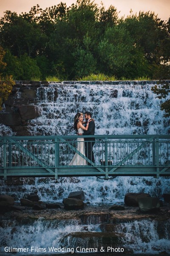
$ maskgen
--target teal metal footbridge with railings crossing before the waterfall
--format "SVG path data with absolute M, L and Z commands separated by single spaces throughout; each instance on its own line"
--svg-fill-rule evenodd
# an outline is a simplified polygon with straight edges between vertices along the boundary
M 0 137 L 0 177 L 170 176 L 170 135 L 92 137 L 95 163 L 77 150 L 77 135 Z M 75 153 L 88 165 L 69 165 Z

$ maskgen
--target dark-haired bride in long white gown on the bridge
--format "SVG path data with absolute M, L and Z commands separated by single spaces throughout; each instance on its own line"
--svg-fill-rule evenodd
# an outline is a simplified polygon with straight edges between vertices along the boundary
M 74 117 L 74 129 L 78 131 L 78 133 L 82 133 L 88 130 L 88 124 L 91 120 L 87 122 L 86 127 L 84 127 L 83 124 L 83 114 L 82 113 L 77 113 Z M 85 141 L 84 138 L 77 138 L 77 150 L 82 153 L 82 155 L 85 156 Z M 87 165 L 87 161 L 82 158 L 78 153 L 75 153 L 73 159 L 69 163 L 69 165 Z

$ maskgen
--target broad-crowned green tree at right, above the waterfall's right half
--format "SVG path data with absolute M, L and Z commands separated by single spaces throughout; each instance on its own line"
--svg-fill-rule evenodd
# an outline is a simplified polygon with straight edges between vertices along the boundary
M 158 79 L 158 69 L 162 62 L 163 41 L 167 35 L 164 21 L 153 12 L 139 12 L 120 21 L 133 38 L 133 54 L 126 73 L 131 77 L 148 76 Z

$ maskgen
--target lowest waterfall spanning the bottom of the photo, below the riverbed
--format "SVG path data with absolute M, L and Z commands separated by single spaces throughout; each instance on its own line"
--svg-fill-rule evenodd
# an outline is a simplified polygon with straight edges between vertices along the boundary
M 80 248 L 96 248 L 99 251 L 105 243 L 110 243 L 109 247 L 115 244 L 115 232 L 109 232 L 111 237 L 107 238 L 109 241 L 105 240 L 108 234 L 103 232 L 100 235 L 100 223 L 83 224 L 74 219 L 49 221 L 42 217 L 29 222 L 23 220 L 23 223 L 17 221 L 6 221 L 3 225 L 2 223 L 0 227 L 0 232 L 3 234 L 0 241 L 2 256 L 5 255 L 4 250 L 12 252 L 12 248 L 26 249 L 26 252 L 21 251 L 16 255 L 51 255 L 56 252 L 81 252 Z M 115 231 L 116 237 L 119 238 L 119 247 L 126 248 L 130 252 L 147 255 L 162 251 L 170 253 L 170 221 L 161 223 L 150 219 L 131 221 L 116 224 Z

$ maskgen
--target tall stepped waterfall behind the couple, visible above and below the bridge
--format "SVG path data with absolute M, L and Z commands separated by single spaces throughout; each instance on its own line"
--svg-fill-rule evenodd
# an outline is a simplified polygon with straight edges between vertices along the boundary
M 30 121 L 32 135 L 75 134 L 72 129 L 74 115 L 85 111 L 92 112 L 96 135 L 168 133 L 170 124 L 168 119 L 163 117 L 164 112 L 159 106 L 164 99 L 156 98 L 156 94 L 151 91 L 154 82 L 115 84 L 62 82 L 41 85 L 37 89 L 37 105 L 42 115 Z M 161 197 L 163 191 L 169 190 L 169 179 L 165 178 L 159 179 L 159 182 L 143 177 L 116 177 L 110 181 L 101 181 L 96 177 L 80 177 L 76 179 L 77 182 L 74 180 L 71 183 L 71 179 L 65 180 L 67 182 L 64 183 L 63 193 L 60 195 L 66 197 L 69 192 L 82 189 L 85 191 L 86 200 L 92 203 L 122 202 L 129 191 L 148 192 Z M 48 185 L 55 191 L 54 194 L 61 191 L 61 183 L 54 183 L 52 180 Z M 38 185 L 42 200 L 52 200 L 51 193 L 46 193 L 44 189 L 48 185 L 43 182 Z M 31 189 L 34 191 L 35 187 Z

